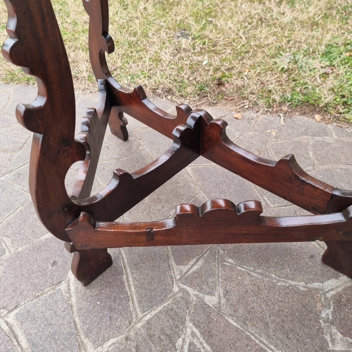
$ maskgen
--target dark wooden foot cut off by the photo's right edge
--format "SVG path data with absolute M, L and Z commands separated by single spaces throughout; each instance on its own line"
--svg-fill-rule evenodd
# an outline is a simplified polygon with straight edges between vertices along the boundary
M 352 278 L 352 241 L 326 241 L 328 246 L 321 261 Z

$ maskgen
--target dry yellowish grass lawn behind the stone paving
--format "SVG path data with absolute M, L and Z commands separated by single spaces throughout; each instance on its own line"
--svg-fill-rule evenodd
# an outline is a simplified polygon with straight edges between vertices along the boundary
M 95 90 L 83 5 L 52 2 L 75 88 Z M 108 62 L 124 86 L 142 84 L 148 93 L 177 101 L 238 95 L 259 107 L 308 103 L 317 112 L 351 119 L 352 56 L 345 55 L 352 51 L 351 0 L 110 2 L 109 32 L 116 45 Z M 3 59 L 0 79 L 32 82 Z

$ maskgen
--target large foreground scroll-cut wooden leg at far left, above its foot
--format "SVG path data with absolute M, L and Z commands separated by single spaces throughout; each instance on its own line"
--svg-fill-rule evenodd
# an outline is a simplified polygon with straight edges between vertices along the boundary
M 5 4 L 10 38 L 2 55 L 35 76 L 38 84 L 36 100 L 16 109 L 19 123 L 34 132 L 31 197 L 45 227 L 68 240 L 64 230 L 79 212 L 65 190 L 65 174 L 84 159 L 86 149 L 74 140 L 75 95 L 67 54 L 50 1 L 5 0 Z

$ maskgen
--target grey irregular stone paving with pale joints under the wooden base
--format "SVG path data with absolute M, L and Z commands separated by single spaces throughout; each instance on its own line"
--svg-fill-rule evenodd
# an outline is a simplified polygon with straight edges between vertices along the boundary
M 0 351 L 352 351 L 352 280 L 320 262 L 323 243 L 109 250 L 113 266 L 82 287 L 69 270 L 70 254 L 30 200 L 31 134 L 14 108 L 34 96 L 31 87 L 0 86 Z M 77 116 L 96 98 L 78 96 Z M 293 152 L 311 175 L 351 188 L 348 131 L 307 117 L 280 124 L 277 116 L 210 113 L 228 122 L 238 145 L 275 160 Z M 132 172 L 171 145 L 132 118 L 128 130 L 127 142 L 107 132 L 94 192 L 113 169 Z M 68 172 L 68 190 L 76 170 Z M 123 219 L 164 219 L 177 204 L 220 197 L 260 200 L 267 215 L 306 213 L 199 158 Z

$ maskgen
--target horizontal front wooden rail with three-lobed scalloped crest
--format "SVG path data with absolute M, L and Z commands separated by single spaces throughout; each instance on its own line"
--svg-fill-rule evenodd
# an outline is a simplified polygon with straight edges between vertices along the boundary
M 223 243 L 352 240 L 352 206 L 341 213 L 262 216 L 259 201 L 234 205 L 215 199 L 197 207 L 181 204 L 176 216 L 155 222 L 97 222 L 81 213 L 67 234 L 77 249 Z

